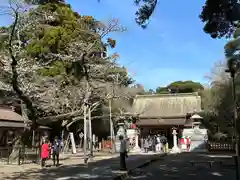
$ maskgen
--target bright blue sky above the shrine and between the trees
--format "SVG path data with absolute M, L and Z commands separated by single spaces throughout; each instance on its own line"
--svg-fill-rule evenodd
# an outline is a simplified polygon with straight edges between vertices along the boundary
M 198 18 L 204 0 L 159 0 L 147 29 L 136 25 L 133 0 L 68 0 L 81 15 L 107 22 L 118 18 L 126 32 L 110 34 L 117 40 L 114 51 L 137 83 L 155 89 L 177 80 L 207 83 L 205 75 L 224 59 L 226 40 L 211 39 Z M 0 25 L 11 21 L 0 17 Z

